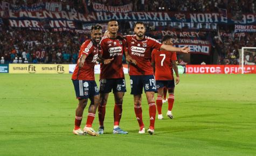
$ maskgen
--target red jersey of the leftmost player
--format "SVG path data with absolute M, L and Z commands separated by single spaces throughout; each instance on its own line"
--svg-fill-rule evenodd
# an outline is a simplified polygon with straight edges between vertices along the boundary
M 81 57 L 82 54 L 86 55 L 86 59 L 82 68 L 79 68 L 77 62 L 77 66 L 75 66 L 75 70 L 72 75 L 73 80 L 95 80 L 94 65 L 96 63 L 96 59 L 98 58 L 99 51 L 99 44 L 95 45 L 95 43 L 93 43 L 91 39 L 86 40 L 84 43 L 82 43 L 78 59 Z

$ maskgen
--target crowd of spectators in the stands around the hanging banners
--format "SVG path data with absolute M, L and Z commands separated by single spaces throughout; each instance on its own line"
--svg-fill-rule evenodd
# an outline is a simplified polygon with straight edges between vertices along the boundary
M 90 10 L 92 3 L 103 3 L 106 5 L 125 5 L 133 3 L 133 11 L 189 11 L 189 12 L 205 12 L 205 11 L 219 11 L 220 8 L 227 9 L 227 12 L 243 12 L 243 13 L 255 13 L 254 0 L 171 0 L 171 1 L 154 1 L 154 0 L 13 0 L 10 3 L 21 5 L 31 5 L 38 2 L 61 2 L 63 9 L 66 11 L 78 10 L 79 12 L 86 12 L 84 8 Z M 85 4 L 86 5 L 81 5 Z M 227 5 L 227 3 L 229 5 Z M 135 5 L 137 4 L 137 5 Z M 239 5 L 238 5 L 239 4 Z M 240 5 L 243 4 L 243 5 Z M 65 7 L 64 7 L 65 6 Z M 91 8 L 92 9 L 92 8 Z M 256 47 L 256 33 L 241 33 L 234 34 L 232 28 L 223 28 L 217 26 L 217 30 L 202 31 L 198 30 L 200 38 L 202 40 L 210 40 L 213 43 L 213 50 L 216 49 L 219 55 L 219 64 L 238 64 L 239 63 L 239 51 L 243 46 Z M 163 25 L 159 23 L 155 26 L 154 23 L 147 23 L 146 35 L 152 36 L 156 39 L 161 39 L 160 33 L 154 33 L 155 31 L 187 31 L 188 28 L 183 27 L 175 28 L 168 24 Z M 231 31 L 232 30 L 232 31 Z M 31 63 L 75 63 L 79 53 L 79 48 L 82 42 L 89 38 L 89 34 L 82 34 L 77 32 L 54 32 L 54 31 L 34 31 L 29 28 L 13 28 L 8 25 L 0 24 L 0 57 L 4 57 L 5 63 L 12 63 L 15 57 L 19 60 L 22 58 Z M 120 33 L 132 34 L 133 27 L 129 24 L 129 21 L 123 21 L 120 26 Z M 205 35 L 205 32 L 207 32 Z M 226 34 L 226 35 L 219 35 Z M 254 56 L 252 56 L 254 58 Z M 256 59 L 256 57 L 255 57 Z

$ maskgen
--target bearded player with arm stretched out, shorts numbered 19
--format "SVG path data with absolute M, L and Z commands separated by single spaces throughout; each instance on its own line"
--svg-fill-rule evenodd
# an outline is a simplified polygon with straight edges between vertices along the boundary
M 137 22 L 134 26 L 135 35 L 127 35 L 126 60 L 130 62 L 129 75 L 130 85 L 132 88 L 131 94 L 134 95 L 134 110 L 137 121 L 139 122 L 139 133 L 145 133 L 144 123 L 142 121 L 142 90 L 147 96 L 149 105 L 150 126 L 147 130 L 150 135 L 154 134 L 156 105 L 154 93 L 156 92 L 156 84 L 153 68 L 151 66 L 151 52 L 153 49 L 163 49 L 167 51 L 180 51 L 189 53 L 190 48 L 176 48 L 171 45 L 162 44 L 153 38 L 145 36 L 146 27 L 143 22 Z

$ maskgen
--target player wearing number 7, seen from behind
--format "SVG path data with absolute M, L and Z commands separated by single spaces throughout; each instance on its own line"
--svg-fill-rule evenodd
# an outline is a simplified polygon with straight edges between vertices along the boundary
M 172 45 L 172 38 L 169 35 L 163 37 L 163 44 Z M 179 83 L 179 74 L 177 67 L 177 56 L 175 52 L 165 51 L 165 50 L 156 50 L 154 49 L 152 52 L 152 66 L 155 72 L 156 78 L 156 88 L 157 88 L 157 98 L 156 98 L 156 106 L 158 112 L 158 119 L 162 120 L 162 98 L 164 95 L 164 89 L 168 89 L 169 97 L 168 97 L 168 112 L 167 116 L 171 119 L 174 118 L 172 116 L 171 110 L 174 105 L 174 73 L 172 68 L 175 71 L 176 85 Z

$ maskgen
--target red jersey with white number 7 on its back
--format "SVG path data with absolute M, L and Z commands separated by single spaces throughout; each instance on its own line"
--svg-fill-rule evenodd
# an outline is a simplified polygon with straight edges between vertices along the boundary
M 174 72 L 172 71 L 171 61 L 176 60 L 176 52 L 154 49 L 152 52 L 152 62 L 155 63 L 155 79 L 173 80 Z

